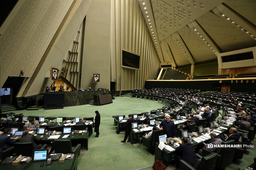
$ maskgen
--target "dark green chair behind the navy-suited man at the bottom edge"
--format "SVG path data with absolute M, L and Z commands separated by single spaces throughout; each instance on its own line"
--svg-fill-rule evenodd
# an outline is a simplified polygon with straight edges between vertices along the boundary
M 180 160 L 180 169 L 182 170 L 214 170 L 215 163 L 217 160 L 217 153 L 211 153 L 207 156 L 202 157 L 199 154 L 196 154 L 198 157 L 198 161 L 196 165 L 193 167 L 188 164 L 185 160 Z

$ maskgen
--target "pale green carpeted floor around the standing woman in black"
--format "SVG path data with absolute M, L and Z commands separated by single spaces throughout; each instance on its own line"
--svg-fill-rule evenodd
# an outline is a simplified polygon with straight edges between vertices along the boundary
M 149 112 L 162 106 L 164 105 L 160 102 L 142 98 L 116 97 L 113 103 L 103 106 L 87 104 L 64 109 L 13 112 L 24 113 L 26 116 L 94 117 L 94 111 L 98 110 L 101 114 L 100 136 L 96 138 L 94 133 L 89 137 L 89 149 L 87 152 L 81 152 L 78 158 L 78 170 L 149 170 L 152 169 L 155 156 L 151 155 L 143 145 L 134 146 L 131 143 L 121 143 L 124 133 L 116 134 L 112 115 L 124 114 L 127 117 L 130 113 Z M 253 144 L 256 145 L 255 140 Z M 252 164 L 253 158 L 256 157 L 256 151 L 253 148 L 248 151 L 250 151 L 249 155 L 244 154 L 240 165 L 231 164 L 226 167 L 226 170 L 233 170 L 237 167 L 244 169 Z M 166 170 L 170 169 L 174 169 L 174 167 L 169 166 Z

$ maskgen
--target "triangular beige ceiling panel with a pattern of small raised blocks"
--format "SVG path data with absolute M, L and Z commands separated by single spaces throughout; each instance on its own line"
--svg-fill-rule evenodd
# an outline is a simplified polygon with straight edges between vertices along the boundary
M 151 0 L 159 40 L 212 10 L 224 0 Z

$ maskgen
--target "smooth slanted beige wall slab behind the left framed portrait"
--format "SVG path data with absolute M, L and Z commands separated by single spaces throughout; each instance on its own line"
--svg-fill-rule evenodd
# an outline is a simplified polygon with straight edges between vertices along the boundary
M 58 77 L 62 76 L 60 73 L 63 59 L 67 56 L 70 46 L 73 44 L 74 37 L 78 34 L 78 30 L 86 16 L 91 1 L 74 1 L 74 6 L 70 8 L 65 20 L 63 20 L 62 27 L 58 29 L 55 35 L 57 37 L 50 42 L 22 97 L 44 93 L 45 87 L 53 83 L 53 80 L 50 78 L 52 67 L 59 69 Z

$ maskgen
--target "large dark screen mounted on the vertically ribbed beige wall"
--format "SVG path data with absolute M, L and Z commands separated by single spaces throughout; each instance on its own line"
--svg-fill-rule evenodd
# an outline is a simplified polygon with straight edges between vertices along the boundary
M 122 50 L 122 66 L 139 69 L 140 56 Z

